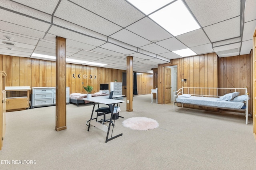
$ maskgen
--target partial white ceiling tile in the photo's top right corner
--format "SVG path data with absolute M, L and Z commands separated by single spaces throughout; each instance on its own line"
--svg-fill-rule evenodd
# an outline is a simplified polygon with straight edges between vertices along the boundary
M 244 22 L 256 20 L 255 9 L 256 9 L 255 0 L 246 0 L 245 1 Z

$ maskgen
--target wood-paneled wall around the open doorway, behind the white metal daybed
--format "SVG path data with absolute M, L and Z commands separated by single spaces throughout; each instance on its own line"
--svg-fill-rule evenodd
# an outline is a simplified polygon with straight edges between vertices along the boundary
M 177 65 L 177 89 L 183 87 L 218 87 L 218 57 L 216 53 L 173 59 L 168 64 L 158 66 L 158 103 L 163 104 L 165 66 Z M 160 72 L 159 72 L 160 70 Z M 186 79 L 186 82 L 182 82 Z M 186 92 L 185 92 L 186 93 Z M 214 94 L 214 93 L 212 93 Z

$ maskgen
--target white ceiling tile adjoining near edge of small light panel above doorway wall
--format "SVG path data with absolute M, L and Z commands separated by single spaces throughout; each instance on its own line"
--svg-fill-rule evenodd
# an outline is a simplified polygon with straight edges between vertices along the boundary
M 156 44 L 170 50 L 170 51 L 176 51 L 180 49 L 186 49 L 188 48 L 186 45 L 181 43 L 178 39 L 175 37 L 165 39 L 163 41 L 156 42 Z

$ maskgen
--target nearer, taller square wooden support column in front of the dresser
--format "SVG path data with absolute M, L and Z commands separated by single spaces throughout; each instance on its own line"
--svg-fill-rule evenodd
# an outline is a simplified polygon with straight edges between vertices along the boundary
M 56 131 L 66 127 L 66 39 L 56 37 Z

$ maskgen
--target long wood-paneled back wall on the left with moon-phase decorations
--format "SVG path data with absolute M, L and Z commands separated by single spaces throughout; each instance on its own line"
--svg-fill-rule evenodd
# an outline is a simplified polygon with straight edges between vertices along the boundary
M 6 72 L 6 86 L 55 87 L 55 61 L 0 55 L 0 70 Z M 86 93 L 83 86 L 93 86 L 92 93 L 99 92 L 100 84 L 109 84 L 116 79 L 122 82 L 122 72 L 112 68 L 66 64 L 66 86 L 70 93 Z M 73 77 L 74 74 L 74 78 Z M 78 78 L 80 74 L 80 78 Z M 90 78 L 90 75 L 92 78 Z M 95 78 L 96 76 L 96 78 Z M 140 85 L 140 81 L 146 86 Z M 150 94 L 152 74 L 137 74 L 139 94 Z M 123 89 L 124 90 L 124 89 Z M 126 91 L 124 90 L 124 95 Z

